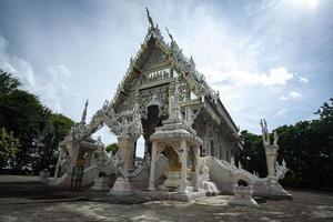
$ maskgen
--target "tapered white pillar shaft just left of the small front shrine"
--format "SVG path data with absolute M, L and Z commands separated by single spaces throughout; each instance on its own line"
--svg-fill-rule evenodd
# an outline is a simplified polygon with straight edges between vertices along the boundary
M 133 154 L 134 154 L 134 145 L 135 138 L 129 135 L 121 135 L 118 138 L 119 153 L 121 159 L 123 160 L 123 171 L 128 172 L 133 169 Z

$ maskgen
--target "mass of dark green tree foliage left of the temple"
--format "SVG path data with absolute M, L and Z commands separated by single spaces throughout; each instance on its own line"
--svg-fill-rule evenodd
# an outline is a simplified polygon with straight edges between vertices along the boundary
M 32 164 L 38 171 L 54 163 L 58 143 L 73 121 L 52 113 L 20 85 L 17 78 L 0 70 L 0 128 L 13 132 L 20 141 L 13 159 L 16 170 Z

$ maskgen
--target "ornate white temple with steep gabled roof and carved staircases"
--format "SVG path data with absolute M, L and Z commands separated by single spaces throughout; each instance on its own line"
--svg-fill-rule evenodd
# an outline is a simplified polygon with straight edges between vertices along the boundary
M 279 184 L 286 172 L 279 165 L 278 137 L 270 144 L 262 123 L 269 175 L 260 179 L 234 165 L 242 149 L 239 129 L 215 92 L 169 33 L 170 42 L 150 17 L 141 49 L 111 101 L 105 101 L 89 123 L 87 105 L 81 122 L 59 144 L 60 154 L 52 184 L 69 185 L 72 169 L 84 157 L 82 185 L 110 189 L 109 194 L 140 194 L 191 200 L 208 193 L 238 192 L 239 180 L 253 195 L 290 196 Z M 118 137 L 119 152 L 107 158 L 101 141 L 90 137 L 103 125 Z M 144 162 L 134 167 L 137 140 L 145 141 Z M 98 179 L 100 172 L 117 174 Z M 99 184 L 99 185 L 98 185 Z M 167 194 L 167 195 L 165 195 Z

